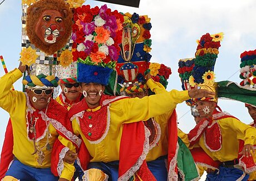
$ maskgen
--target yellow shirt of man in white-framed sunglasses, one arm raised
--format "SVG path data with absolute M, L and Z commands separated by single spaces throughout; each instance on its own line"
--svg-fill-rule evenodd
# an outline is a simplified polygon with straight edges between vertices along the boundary
M 19 69 L 14 69 L 13 71 L 7 73 L 0 78 L 0 107 L 6 110 L 11 117 L 14 142 L 13 154 L 21 163 L 30 167 L 49 168 L 51 167 L 52 149 L 42 149 L 43 153 L 45 153 L 45 159 L 43 160 L 42 166 L 39 165 L 37 162 L 37 154 L 32 155 L 32 153 L 34 152 L 34 144 L 33 141 L 28 140 L 27 135 L 26 95 L 23 92 L 11 90 L 12 84 L 21 77 L 21 71 L 19 71 Z M 55 142 L 55 140 L 59 139 L 63 145 L 70 148 L 70 150 L 76 152 L 75 146 L 73 146 L 73 144 L 69 140 L 61 137 L 61 135 L 58 135 L 57 130 L 53 127 L 51 123 L 49 124 L 48 130 L 51 134 L 51 137 L 49 138 L 49 144 L 51 145 L 51 147 L 53 147 L 53 143 Z M 40 140 L 39 143 L 41 148 L 45 146 L 46 140 L 46 137 Z M 73 167 L 73 165 L 65 163 L 61 178 L 71 180 L 73 177 L 72 170 L 74 169 L 75 168 Z

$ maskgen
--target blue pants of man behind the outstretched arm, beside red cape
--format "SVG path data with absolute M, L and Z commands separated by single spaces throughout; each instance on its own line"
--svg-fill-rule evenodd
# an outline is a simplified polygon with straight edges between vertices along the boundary
M 167 169 L 165 164 L 165 158 L 167 157 L 159 157 L 156 160 L 147 162 L 147 167 L 155 176 L 157 181 L 167 180 Z

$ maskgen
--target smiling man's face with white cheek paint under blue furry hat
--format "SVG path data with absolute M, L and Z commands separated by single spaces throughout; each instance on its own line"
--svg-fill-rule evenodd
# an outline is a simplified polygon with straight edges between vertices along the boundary
M 82 83 L 81 92 L 86 92 L 85 100 L 89 108 L 96 108 L 100 105 L 100 98 L 105 86 L 99 83 Z M 85 95 L 85 93 L 83 93 Z

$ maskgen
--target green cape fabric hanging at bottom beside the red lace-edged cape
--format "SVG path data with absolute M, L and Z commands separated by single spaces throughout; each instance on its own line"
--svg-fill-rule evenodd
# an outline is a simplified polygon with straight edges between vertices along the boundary
M 190 153 L 190 150 L 183 141 L 178 138 L 179 150 L 177 156 L 178 168 L 185 175 L 186 180 L 193 180 L 199 177 L 198 170 L 196 169 L 196 165 L 194 159 Z

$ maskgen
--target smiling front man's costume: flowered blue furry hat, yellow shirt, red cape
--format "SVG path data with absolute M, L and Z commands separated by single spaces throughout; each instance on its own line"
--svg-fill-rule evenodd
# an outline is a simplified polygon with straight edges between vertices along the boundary
M 92 17 L 90 13 L 95 16 L 92 19 L 83 18 L 83 11 L 87 12 L 88 17 Z M 121 43 L 123 16 L 117 11 L 111 12 L 106 5 L 91 9 L 90 6 L 82 6 L 75 10 L 74 19 L 78 25 L 73 27 L 72 34 L 75 42 L 73 57 L 74 60 L 78 59 L 77 80 L 105 86 L 120 52 L 118 44 Z M 81 34 L 83 27 L 90 28 Z M 109 31 L 105 27 L 109 27 Z M 102 39 L 99 39 L 97 35 L 101 33 Z M 83 41 L 87 44 L 86 48 Z M 84 178 L 154 180 L 145 162 L 149 150 L 149 132 L 138 121 L 168 112 L 188 97 L 188 92 L 177 90 L 143 99 L 102 94 L 99 107 L 89 108 L 85 99 L 73 105 L 68 114 L 74 133 L 83 140 L 78 150 L 78 163 L 85 170 Z M 156 109 L 159 100 L 169 101 Z

